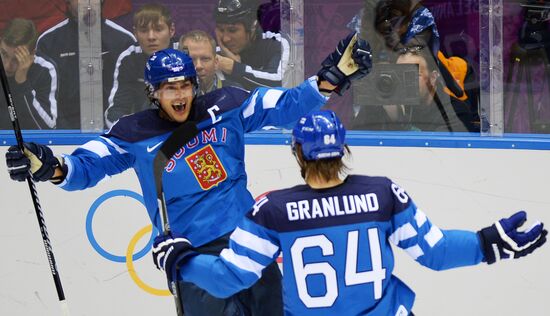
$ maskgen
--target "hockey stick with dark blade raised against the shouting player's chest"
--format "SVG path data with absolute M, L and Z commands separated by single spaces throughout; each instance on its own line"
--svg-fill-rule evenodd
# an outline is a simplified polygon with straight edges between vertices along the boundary
M 198 129 L 195 122 L 186 121 L 172 132 L 172 134 L 164 141 L 159 151 L 153 160 L 153 174 L 155 176 L 155 184 L 157 187 L 157 201 L 162 219 L 162 228 L 164 235 L 169 235 L 171 232 L 170 222 L 168 220 L 168 210 L 166 209 L 166 199 L 164 198 L 164 189 L 162 187 L 162 174 L 168 161 L 176 154 L 176 152 L 187 144 L 195 135 Z M 178 316 L 183 315 L 183 305 L 181 302 L 181 291 L 176 281 L 170 283 L 174 299 L 176 301 L 176 310 Z

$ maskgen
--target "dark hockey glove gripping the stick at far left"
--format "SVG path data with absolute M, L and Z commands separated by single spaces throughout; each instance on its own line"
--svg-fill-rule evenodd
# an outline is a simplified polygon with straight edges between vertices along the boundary
M 12 180 L 25 181 L 29 171 L 34 181 L 48 181 L 60 163 L 52 150 L 45 145 L 24 143 L 24 152 L 11 146 L 6 152 L 6 164 Z

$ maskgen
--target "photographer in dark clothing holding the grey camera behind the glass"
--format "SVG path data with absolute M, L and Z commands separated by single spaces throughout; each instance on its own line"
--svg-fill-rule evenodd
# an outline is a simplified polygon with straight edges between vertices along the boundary
M 429 49 L 402 50 L 397 64 L 418 64 L 420 105 L 368 106 L 359 110 L 354 129 L 478 132 L 469 105 L 444 92 L 438 67 Z

